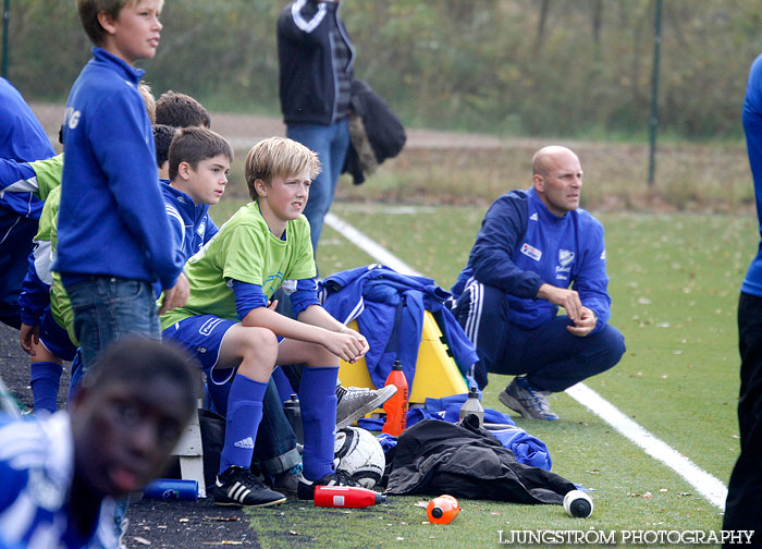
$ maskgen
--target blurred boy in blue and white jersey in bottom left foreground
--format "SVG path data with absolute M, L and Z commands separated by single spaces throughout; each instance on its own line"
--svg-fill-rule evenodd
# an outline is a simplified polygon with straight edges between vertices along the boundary
M 114 498 L 163 471 L 198 387 L 184 353 L 130 338 L 103 352 L 69 412 L 0 418 L 0 547 L 118 547 Z

